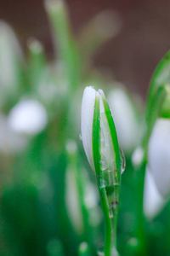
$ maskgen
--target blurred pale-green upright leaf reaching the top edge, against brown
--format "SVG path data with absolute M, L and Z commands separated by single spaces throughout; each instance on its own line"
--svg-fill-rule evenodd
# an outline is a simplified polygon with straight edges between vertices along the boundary
M 67 8 L 62 0 L 46 0 L 45 8 L 54 32 L 54 47 L 58 44 L 60 61 L 71 86 L 77 87 L 80 79 L 80 56 L 72 36 Z

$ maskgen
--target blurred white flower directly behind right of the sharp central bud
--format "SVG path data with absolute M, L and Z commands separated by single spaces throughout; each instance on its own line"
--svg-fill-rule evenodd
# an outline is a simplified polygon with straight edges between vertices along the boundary
M 125 154 L 132 153 L 133 149 L 139 145 L 141 138 L 141 125 L 133 103 L 122 88 L 111 90 L 108 102 L 115 121 L 120 146 Z

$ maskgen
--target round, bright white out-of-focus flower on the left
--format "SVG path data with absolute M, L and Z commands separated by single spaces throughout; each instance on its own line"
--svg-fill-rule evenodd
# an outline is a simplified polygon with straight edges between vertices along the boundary
M 37 134 L 48 123 L 48 114 L 40 102 L 23 99 L 8 114 L 8 125 L 15 132 Z

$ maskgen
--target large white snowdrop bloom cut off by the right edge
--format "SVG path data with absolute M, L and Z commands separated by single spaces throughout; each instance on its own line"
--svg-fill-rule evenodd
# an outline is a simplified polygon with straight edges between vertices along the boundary
M 157 119 L 148 148 L 150 172 L 163 197 L 170 194 L 170 119 Z

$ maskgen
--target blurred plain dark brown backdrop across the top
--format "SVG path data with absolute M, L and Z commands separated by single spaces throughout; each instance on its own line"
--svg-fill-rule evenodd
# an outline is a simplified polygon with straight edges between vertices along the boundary
M 98 67 L 109 67 L 117 80 L 146 96 L 151 73 L 170 46 L 168 0 L 66 0 L 74 32 L 105 9 L 122 17 L 122 31 L 95 56 Z M 26 39 L 37 37 L 53 55 L 47 15 L 42 0 L 0 0 L 0 19 L 14 28 L 26 49 Z

